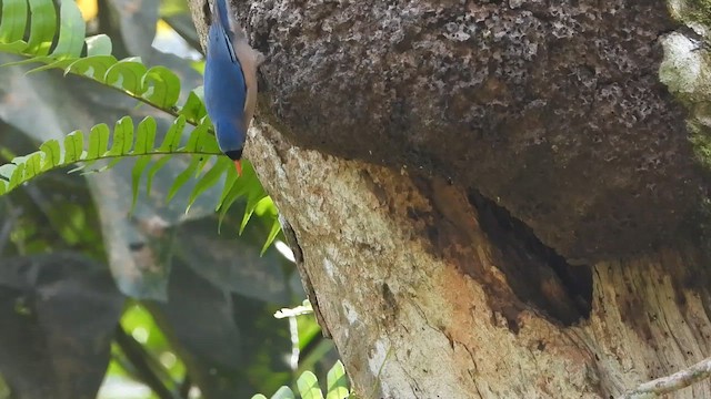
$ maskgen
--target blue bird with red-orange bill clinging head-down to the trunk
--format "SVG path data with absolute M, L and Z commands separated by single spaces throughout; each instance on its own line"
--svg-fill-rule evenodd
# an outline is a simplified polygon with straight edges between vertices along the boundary
M 214 0 L 208 30 L 204 105 L 220 151 L 242 175 L 242 151 L 257 106 L 257 69 L 263 55 L 252 49 L 227 0 Z

